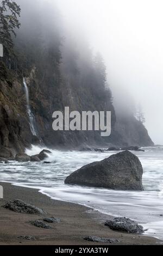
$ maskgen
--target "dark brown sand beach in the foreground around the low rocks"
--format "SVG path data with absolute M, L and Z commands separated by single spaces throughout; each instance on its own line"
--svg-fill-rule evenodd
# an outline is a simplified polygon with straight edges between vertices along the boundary
M 117 245 L 159 245 L 161 242 L 153 237 L 112 231 L 104 225 L 108 216 L 85 206 L 53 200 L 30 188 L 2 182 L 0 185 L 4 188 L 4 199 L 0 199 L 0 245 L 110 245 L 87 242 L 83 240 L 85 236 L 118 239 L 120 243 Z M 51 230 L 34 227 L 29 221 L 41 220 L 42 216 L 17 214 L 2 208 L 7 200 L 13 199 L 35 205 L 48 212 L 48 217 L 60 218 L 61 223 L 49 224 L 53 226 Z M 24 240 L 17 236 L 35 236 L 36 240 Z

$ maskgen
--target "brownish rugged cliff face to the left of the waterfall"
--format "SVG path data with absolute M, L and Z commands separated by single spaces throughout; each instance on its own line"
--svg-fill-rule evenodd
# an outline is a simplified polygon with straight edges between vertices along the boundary
M 16 152 L 22 152 L 24 148 L 29 147 L 35 138 L 30 132 L 26 97 L 21 80 L 6 69 L 3 63 L 0 64 L 0 68 L 1 157 L 12 157 Z M 8 151 L 10 153 L 7 153 Z

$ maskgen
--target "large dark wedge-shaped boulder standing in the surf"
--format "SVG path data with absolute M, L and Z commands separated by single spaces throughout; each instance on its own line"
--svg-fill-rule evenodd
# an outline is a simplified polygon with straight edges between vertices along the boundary
M 65 184 L 142 191 L 142 174 L 138 157 L 129 151 L 123 151 L 76 170 L 66 178 Z

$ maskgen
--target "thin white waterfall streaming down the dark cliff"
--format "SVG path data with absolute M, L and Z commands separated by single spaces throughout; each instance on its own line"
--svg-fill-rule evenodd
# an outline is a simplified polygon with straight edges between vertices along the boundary
M 29 92 L 28 92 L 28 87 L 27 87 L 26 80 L 25 80 L 24 77 L 23 77 L 23 84 L 24 84 L 25 93 L 26 93 L 27 113 L 28 113 L 28 117 L 29 117 L 30 130 L 31 130 L 31 132 L 34 136 L 37 136 L 37 132 L 36 132 L 36 129 L 35 129 L 35 117 L 34 117 L 34 114 L 32 113 L 32 111 L 30 109 Z

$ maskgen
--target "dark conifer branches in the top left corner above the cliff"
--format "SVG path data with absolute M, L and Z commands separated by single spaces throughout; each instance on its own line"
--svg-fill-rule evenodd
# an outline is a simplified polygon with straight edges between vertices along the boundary
M 20 6 L 13 0 L 0 2 L 0 43 L 3 44 L 6 57 L 11 57 L 14 54 L 12 35 L 16 36 L 15 29 L 21 26 L 18 21 L 20 13 Z

